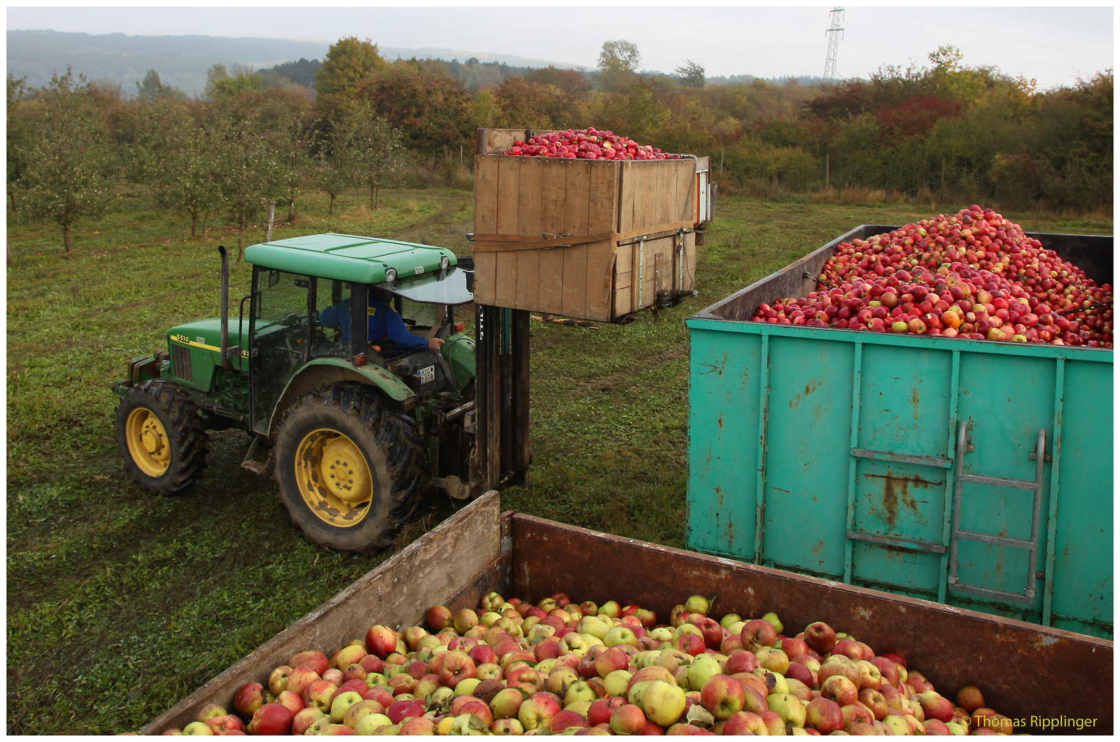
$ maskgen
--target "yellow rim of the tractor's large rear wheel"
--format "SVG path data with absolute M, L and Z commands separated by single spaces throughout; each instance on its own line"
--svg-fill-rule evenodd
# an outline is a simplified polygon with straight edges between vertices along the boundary
M 348 528 L 370 511 L 373 478 L 362 449 L 329 429 L 311 431 L 296 449 L 299 494 L 317 518 Z

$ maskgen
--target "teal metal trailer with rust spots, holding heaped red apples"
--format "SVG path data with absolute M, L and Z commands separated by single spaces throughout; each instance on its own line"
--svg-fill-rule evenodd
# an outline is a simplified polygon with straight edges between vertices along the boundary
M 748 321 L 895 228 L 687 320 L 688 547 L 1111 638 L 1111 349 Z M 1111 281 L 1112 237 L 1029 236 Z

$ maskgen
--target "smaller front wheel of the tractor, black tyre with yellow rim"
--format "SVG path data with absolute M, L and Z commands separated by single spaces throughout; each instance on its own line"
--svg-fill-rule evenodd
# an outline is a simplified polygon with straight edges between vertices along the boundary
M 177 384 L 151 379 L 130 388 L 116 407 L 116 444 L 142 489 L 177 495 L 206 468 L 208 436 L 198 408 Z

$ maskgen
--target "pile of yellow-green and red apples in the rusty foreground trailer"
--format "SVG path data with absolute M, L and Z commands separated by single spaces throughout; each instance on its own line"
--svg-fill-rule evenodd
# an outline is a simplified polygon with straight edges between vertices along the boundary
M 709 617 L 693 595 L 668 623 L 638 605 L 532 605 L 489 593 L 436 605 L 428 628 L 373 626 L 329 658 L 301 651 L 208 705 L 183 734 L 999 734 L 979 688 L 942 688 L 818 621 Z M 177 734 L 179 730 L 167 730 Z

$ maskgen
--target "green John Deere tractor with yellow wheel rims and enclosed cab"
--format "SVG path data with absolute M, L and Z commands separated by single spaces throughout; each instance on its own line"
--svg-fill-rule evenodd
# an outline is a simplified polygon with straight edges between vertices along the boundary
M 187 489 L 207 431 L 242 429 L 253 436 L 242 466 L 272 472 L 308 538 L 371 553 L 429 488 L 466 499 L 494 485 L 476 443 L 475 341 L 455 316 L 473 301 L 470 259 L 344 234 L 252 245 L 234 323 L 218 250 L 222 316 L 172 327 L 166 351 L 129 361 L 112 385 L 121 455 L 143 489 Z M 404 347 L 349 332 L 373 332 L 386 306 Z

